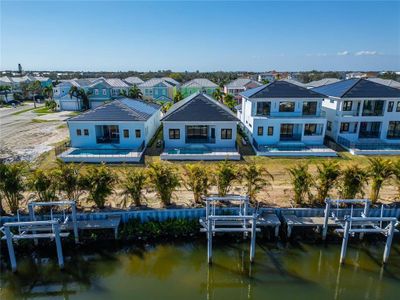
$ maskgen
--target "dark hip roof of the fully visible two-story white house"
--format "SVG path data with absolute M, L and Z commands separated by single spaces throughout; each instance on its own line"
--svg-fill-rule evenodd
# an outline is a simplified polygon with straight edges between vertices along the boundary
M 278 80 L 241 93 L 246 98 L 324 98 L 312 90 Z

